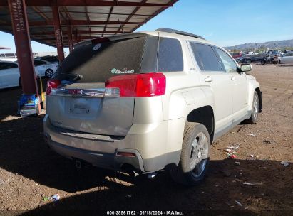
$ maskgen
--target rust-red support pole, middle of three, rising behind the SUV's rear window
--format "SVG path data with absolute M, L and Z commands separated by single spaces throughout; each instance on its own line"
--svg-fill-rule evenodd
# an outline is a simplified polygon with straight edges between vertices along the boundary
M 53 24 L 56 38 L 56 48 L 58 53 L 58 59 L 61 63 L 64 60 L 64 51 L 63 51 L 63 40 L 62 40 L 62 30 L 60 22 L 60 14 L 58 6 L 52 6 L 53 12 Z

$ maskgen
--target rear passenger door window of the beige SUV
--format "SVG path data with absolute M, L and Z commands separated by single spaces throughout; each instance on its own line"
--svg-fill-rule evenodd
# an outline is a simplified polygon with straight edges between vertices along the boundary
M 202 71 L 225 71 L 210 45 L 190 43 L 197 65 Z

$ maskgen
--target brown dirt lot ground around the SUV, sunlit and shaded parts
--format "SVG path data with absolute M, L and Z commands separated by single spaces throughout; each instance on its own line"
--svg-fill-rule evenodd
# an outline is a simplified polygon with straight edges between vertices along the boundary
M 44 143 L 45 112 L 18 117 L 21 90 L 1 90 L 0 215 L 43 215 L 52 210 L 63 215 L 83 210 L 293 215 L 293 65 L 254 65 L 252 75 L 263 91 L 259 122 L 240 124 L 212 144 L 207 178 L 194 188 L 173 183 L 165 171 L 148 180 L 98 168 L 76 169 Z M 236 159 L 223 153 L 232 145 L 239 146 Z M 55 193 L 61 196 L 58 202 L 43 200 Z

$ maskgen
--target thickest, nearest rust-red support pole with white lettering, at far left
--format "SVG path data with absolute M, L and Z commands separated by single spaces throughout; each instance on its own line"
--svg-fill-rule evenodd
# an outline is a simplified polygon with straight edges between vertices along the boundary
M 31 38 L 29 37 L 29 25 L 26 16 L 26 2 L 25 0 L 9 0 L 9 9 L 22 91 L 24 94 L 38 95 L 34 60 L 31 52 Z

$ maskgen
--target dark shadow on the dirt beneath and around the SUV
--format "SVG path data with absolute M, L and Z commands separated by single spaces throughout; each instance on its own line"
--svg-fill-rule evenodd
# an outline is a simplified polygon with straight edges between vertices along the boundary
M 293 210 L 292 178 L 288 180 L 288 176 L 293 176 L 293 168 L 284 167 L 280 161 L 210 161 L 206 180 L 193 188 L 173 183 L 165 171 L 148 180 L 92 167 L 78 170 L 72 161 L 46 146 L 42 118 L 1 122 L 0 168 L 60 193 L 76 194 L 61 197 L 58 202 L 45 202 L 40 198 L 43 205 L 24 215 L 53 214 L 51 211 L 55 210 L 63 215 L 83 211 L 106 214 L 106 210 L 192 210 L 206 215 L 231 212 L 234 215 L 231 210 L 255 214 L 266 207 Z M 235 161 L 240 162 L 240 166 Z M 259 185 L 244 185 L 245 182 Z

